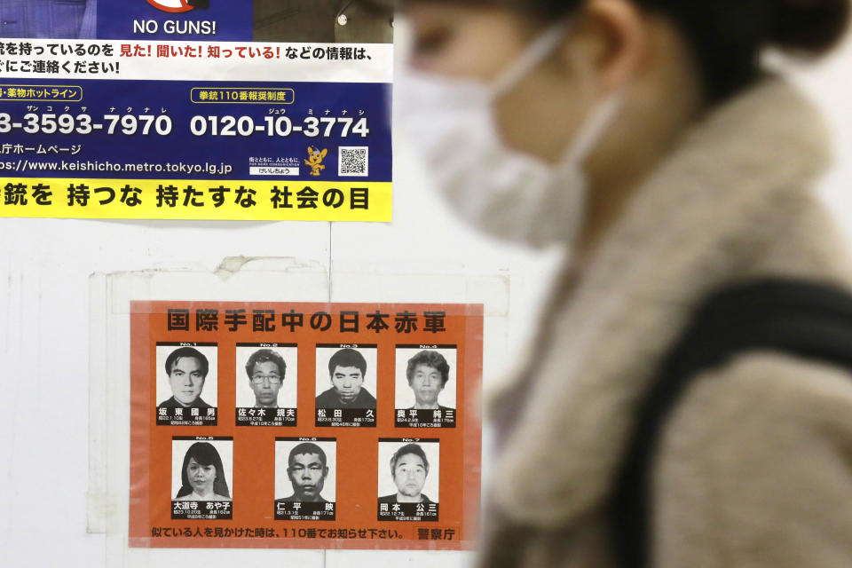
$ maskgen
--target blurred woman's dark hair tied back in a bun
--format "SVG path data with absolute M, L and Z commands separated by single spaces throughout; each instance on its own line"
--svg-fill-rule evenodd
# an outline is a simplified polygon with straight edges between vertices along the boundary
M 407 2 L 428 0 L 407 0 Z M 438 1 L 438 0 L 432 0 Z M 443 0 L 446 1 L 446 0 Z M 454 0 L 498 4 L 546 20 L 577 10 L 582 0 Z M 698 62 L 708 103 L 725 99 L 760 72 L 761 49 L 801 54 L 828 51 L 846 31 L 849 0 L 634 0 L 667 16 L 681 30 Z

